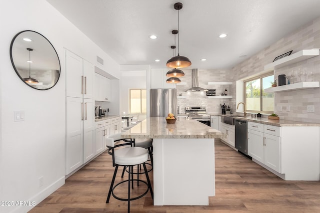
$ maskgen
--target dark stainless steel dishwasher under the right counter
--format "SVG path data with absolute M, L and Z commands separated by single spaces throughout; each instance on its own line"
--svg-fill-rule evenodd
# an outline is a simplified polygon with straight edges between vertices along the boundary
M 235 149 L 248 155 L 248 126 L 246 121 L 234 119 Z

